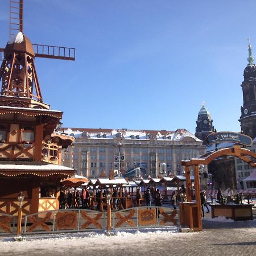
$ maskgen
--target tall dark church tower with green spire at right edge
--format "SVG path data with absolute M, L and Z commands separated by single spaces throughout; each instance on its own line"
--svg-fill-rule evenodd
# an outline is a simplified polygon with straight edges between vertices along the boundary
M 243 71 L 244 80 L 241 84 L 243 91 L 243 106 L 241 106 L 241 130 L 243 134 L 256 137 L 256 66 L 251 51 L 251 45 L 248 46 L 249 57 L 248 64 Z

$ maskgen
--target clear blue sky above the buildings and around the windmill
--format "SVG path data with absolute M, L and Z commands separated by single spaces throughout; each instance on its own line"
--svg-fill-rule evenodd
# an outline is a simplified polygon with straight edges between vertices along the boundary
M 44 102 L 64 127 L 195 133 L 204 101 L 218 131 L 240 131 L 247 38 L 256 1 L 24 0 L 32 43 L 76 48 L 76 61 L 36 59 Z M 9 38 L 1 0 L 0 47 Z

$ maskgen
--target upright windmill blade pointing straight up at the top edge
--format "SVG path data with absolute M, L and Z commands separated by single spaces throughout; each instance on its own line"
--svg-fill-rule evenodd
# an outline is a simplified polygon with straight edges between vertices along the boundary
M 23 0 L 10 0 L 10 30 L 9 36 L 23 32 Z

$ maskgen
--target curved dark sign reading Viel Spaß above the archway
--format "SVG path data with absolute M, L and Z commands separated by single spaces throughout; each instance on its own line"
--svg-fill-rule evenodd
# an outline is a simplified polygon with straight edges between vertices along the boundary
M 251 137 L 241 133 L 232 133 L 231 131 L 210 133 L 207 136 L 207 141 L 209 142 L 209 144 L 216 144 L 221 142 L 238 143 L 245 146 L 251 146 L 253 144 L 253 140 L 251 139 Z

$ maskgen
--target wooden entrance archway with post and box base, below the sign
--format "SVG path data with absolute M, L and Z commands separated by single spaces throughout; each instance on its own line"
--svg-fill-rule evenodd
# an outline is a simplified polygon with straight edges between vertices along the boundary
M 186 176 L 186 191 L 187 202 L 180 203 L 180 223 L 183 226 L 189 226 L 195 231 L 203 229 L 201 218 L 201 200 L 200 200 L 200 179 L 199 179 L 199 165 L 209 164 L 212 160 L 219 157 L 236 156 L 251 167 L 256 167 L 256 154 L 241 146 L 234 146 L 231 148 L 222 148 L 220 150 L 205 154 L 201 158 L 192 158 L 188 161 L 181 161 L 181 166 L 185 166 Z M 253 160 L 252 160 L 253 159 Z M 195 176 L 195 196 L 196 202 L 192 202 L 192 183 L 191 183 L 191 166 L 194 170 Z

